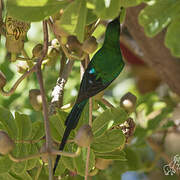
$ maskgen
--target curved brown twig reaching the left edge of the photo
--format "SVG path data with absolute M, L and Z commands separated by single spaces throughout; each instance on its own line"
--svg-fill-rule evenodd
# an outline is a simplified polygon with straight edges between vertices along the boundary
M 5 91 L 4 89 L 0 89 L 0 93 L 3 96 L 10 96 L 14 93 L 14 91 L 16 90 L 16 88 L 18 87 L 18 85 L 22 82 L 22 80 L 24 80 L 26 77 L 28 77 L 30 74 L 32 74 L 33 72 L 36 71 L 36 66 L 34 66 L 32 69 L 30 69 L 29 71 L 25 72 L 12 86 L 12 88 L 9 91 Z

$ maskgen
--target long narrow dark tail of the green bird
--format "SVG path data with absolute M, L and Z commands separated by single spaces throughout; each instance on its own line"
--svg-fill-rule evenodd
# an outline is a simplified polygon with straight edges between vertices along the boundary
M 87 103 L 87 100 L 82 101 L 79 104 L 75 104 L 74 107 L 72 108 L 70 114 L 68 115 L 68 117 L 65 121 L 66 129 L 65 129 L 65 132 L 63 134 L 63 138 L 62 138 L 62 141 L 61 141 L 61 144 L 59 147 L 60 151 L 62 151 L 64 149 L 65 144 L 67 142 L 67 139 L 71 133 L 71 130 L 77 126 L 78 121 L 79 121 L 80 116 L 81 116 L 81 113 L 82 113 L 86 103 Z M 56 157 L 56 161 L 55 161 L 54 168 L 53 168 L 53 174 L 55 174 L 56 167 L 58 165 L 60 157 L 61 157 L 60 155 L 57 155 L 57 157 Z

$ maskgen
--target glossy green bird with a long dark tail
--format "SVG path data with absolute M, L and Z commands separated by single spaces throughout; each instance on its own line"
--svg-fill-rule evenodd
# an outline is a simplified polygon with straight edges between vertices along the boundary
M 66 129 L 59 147 L 60 151 L 63 151 L 70 132 L 76 128 L 88 99 L 107 88 L 123 70 L 125 63 L 119 38 L 120 20 L 117 17 L 108 23 L 103 45 L 95 53 L 83 74 L 75 104 L 65 121 Z M 56 157 L 53 174 L 60 157 L 60 155 Z

